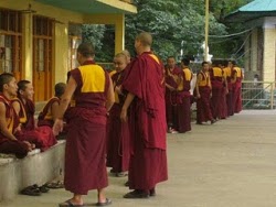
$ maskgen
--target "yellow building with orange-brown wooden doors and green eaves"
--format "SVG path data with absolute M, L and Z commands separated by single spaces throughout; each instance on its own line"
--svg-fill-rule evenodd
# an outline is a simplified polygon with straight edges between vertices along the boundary
M 125 47 L 125 14 L 131 0 L 0 0 L 0 73 L 33 81 L 35 101 L 74 68 L 79 24 L 114 24 L 115 53 Z

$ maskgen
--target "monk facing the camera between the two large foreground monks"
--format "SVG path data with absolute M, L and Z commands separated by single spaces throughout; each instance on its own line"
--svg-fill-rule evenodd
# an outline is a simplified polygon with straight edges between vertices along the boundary
M 115 103 L 109 111 L 107 132 L 107 163 L 116 176 L 125 176 L 129 166 L 129 126 L 120 120 L 120 111 L 125 101 L 125 95 L 120 90 L 124 79 L 125 68 L 128 58 L 124 53 L 118 53 L 114 57 L 116 74 L 112 76 L 115 89 Z

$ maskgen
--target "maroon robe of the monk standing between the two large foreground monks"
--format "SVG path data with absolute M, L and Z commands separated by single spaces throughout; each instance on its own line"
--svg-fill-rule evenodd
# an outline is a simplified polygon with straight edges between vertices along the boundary
M 112 76 L 114 88 L 120 86 L 125 70 Z M 118 95 L 119 100 L 115 102 L 109 111 L 107 130 L 107 166 L 113 167 L 114 172 L 128 171 L 129 166 L 129 126 L 121 122 L 120 112 L 125 101 L 123 95 Z

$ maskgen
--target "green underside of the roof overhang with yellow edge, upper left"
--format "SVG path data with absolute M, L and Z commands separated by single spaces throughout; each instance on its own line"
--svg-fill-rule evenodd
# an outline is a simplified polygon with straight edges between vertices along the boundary
M 116 13 L 137 13 L 137 8 L 129 0 L 35 0 L 78 13 L 86 14 L 116 14 Z

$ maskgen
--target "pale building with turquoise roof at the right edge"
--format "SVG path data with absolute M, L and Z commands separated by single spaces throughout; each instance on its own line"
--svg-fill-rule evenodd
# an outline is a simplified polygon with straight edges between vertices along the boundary
M 226 17 L 252 29 L 245 43 L 245 78 L 276 80 L 276 0 L 255 0 Z

